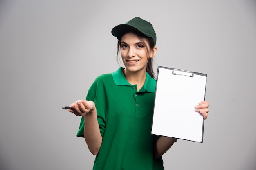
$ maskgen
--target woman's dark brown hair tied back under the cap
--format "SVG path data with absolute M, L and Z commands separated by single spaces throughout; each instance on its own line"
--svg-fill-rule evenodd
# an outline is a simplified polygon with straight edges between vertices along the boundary
M 155 46 L 153 38 L 151 37 L 146 37 L 144 34 L 141 34 L 139 32 L 135 32 L 135 31 L 128 31 L 126 33 L 134 33 L 135 35 L 137 35 L 139 37 L 139 40 L 141 42 L 143 42 L 145 44 L 145 47 L 147 49 L 147 54 L 149 55 L 149 51 L 152 50 Z M 123 37 L 123 35 L 125 35 L 126 33 L 122 34 L 120 37 L 118 37 L 118 43 L 117 43 L 117 62 L 118 62 L 118 54 L 119 54 L 119 50 L 121 48 L 121 38 Z M 148 42 L 149 45 L 149 49 L 148 46 L 146 46 L 146 43 L 144 41 L 144 38 L 146 39 L 146 41 Z M 148 57 L 148 63 L 147 63 L 147 68 L 146 68 L 146 72 L 148 72 L 148 74 L 152 77 L 155 78 L 155 73 L 153 70 L 153 58 Z

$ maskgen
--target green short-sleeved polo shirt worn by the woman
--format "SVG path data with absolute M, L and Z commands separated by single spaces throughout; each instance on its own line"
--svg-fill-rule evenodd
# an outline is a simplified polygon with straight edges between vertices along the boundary
M 137 92 L 119 68 L 96 78 L 86 100 L 94 101 L 103 141 L 93 170 L 163 170 L 162 157 L 153 158 L 151 126 L 156 80 L 146 73 Z M 81 118 L 77 136 L 83 137 Z

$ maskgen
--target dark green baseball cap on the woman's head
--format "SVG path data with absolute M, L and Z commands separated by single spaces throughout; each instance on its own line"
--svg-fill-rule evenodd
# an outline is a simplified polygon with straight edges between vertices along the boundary
M 146 35 L 147 37 L 151 37 L 154 41 L 154 44 L 157 42 L 157 35 L 155 34 L 155 30 L 152 27 L 152 24 L 146 20 L 141 19 L 140 17 L 135 17 L 125 24 L 115 26 L 111 33 L 115 37 L 119 38 L 127 31 L 137 31 Z

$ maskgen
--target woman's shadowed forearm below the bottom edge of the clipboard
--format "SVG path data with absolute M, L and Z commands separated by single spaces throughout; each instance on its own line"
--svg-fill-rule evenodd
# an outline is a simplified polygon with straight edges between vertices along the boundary
M 171 148 L 173 143 L 176 141 L 175 138 L 171 137 L 164 137 L 161 136 L 157 141 L 155 142 L 155 147 L 154 147 L 154 157 L 159 158 L 162 156 L 166 151 Z

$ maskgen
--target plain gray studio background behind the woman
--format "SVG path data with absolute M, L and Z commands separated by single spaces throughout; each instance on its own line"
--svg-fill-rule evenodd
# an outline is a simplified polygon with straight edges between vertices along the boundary
M 179 140 L 166 170 L 256 169 L 255 0 L 0 1 L 0 169 L 90 170 L 80 117 L 61 109 L 117 70 L 112 27 L 157 33 L 157 65 L 207 74 L 204 142 Z

